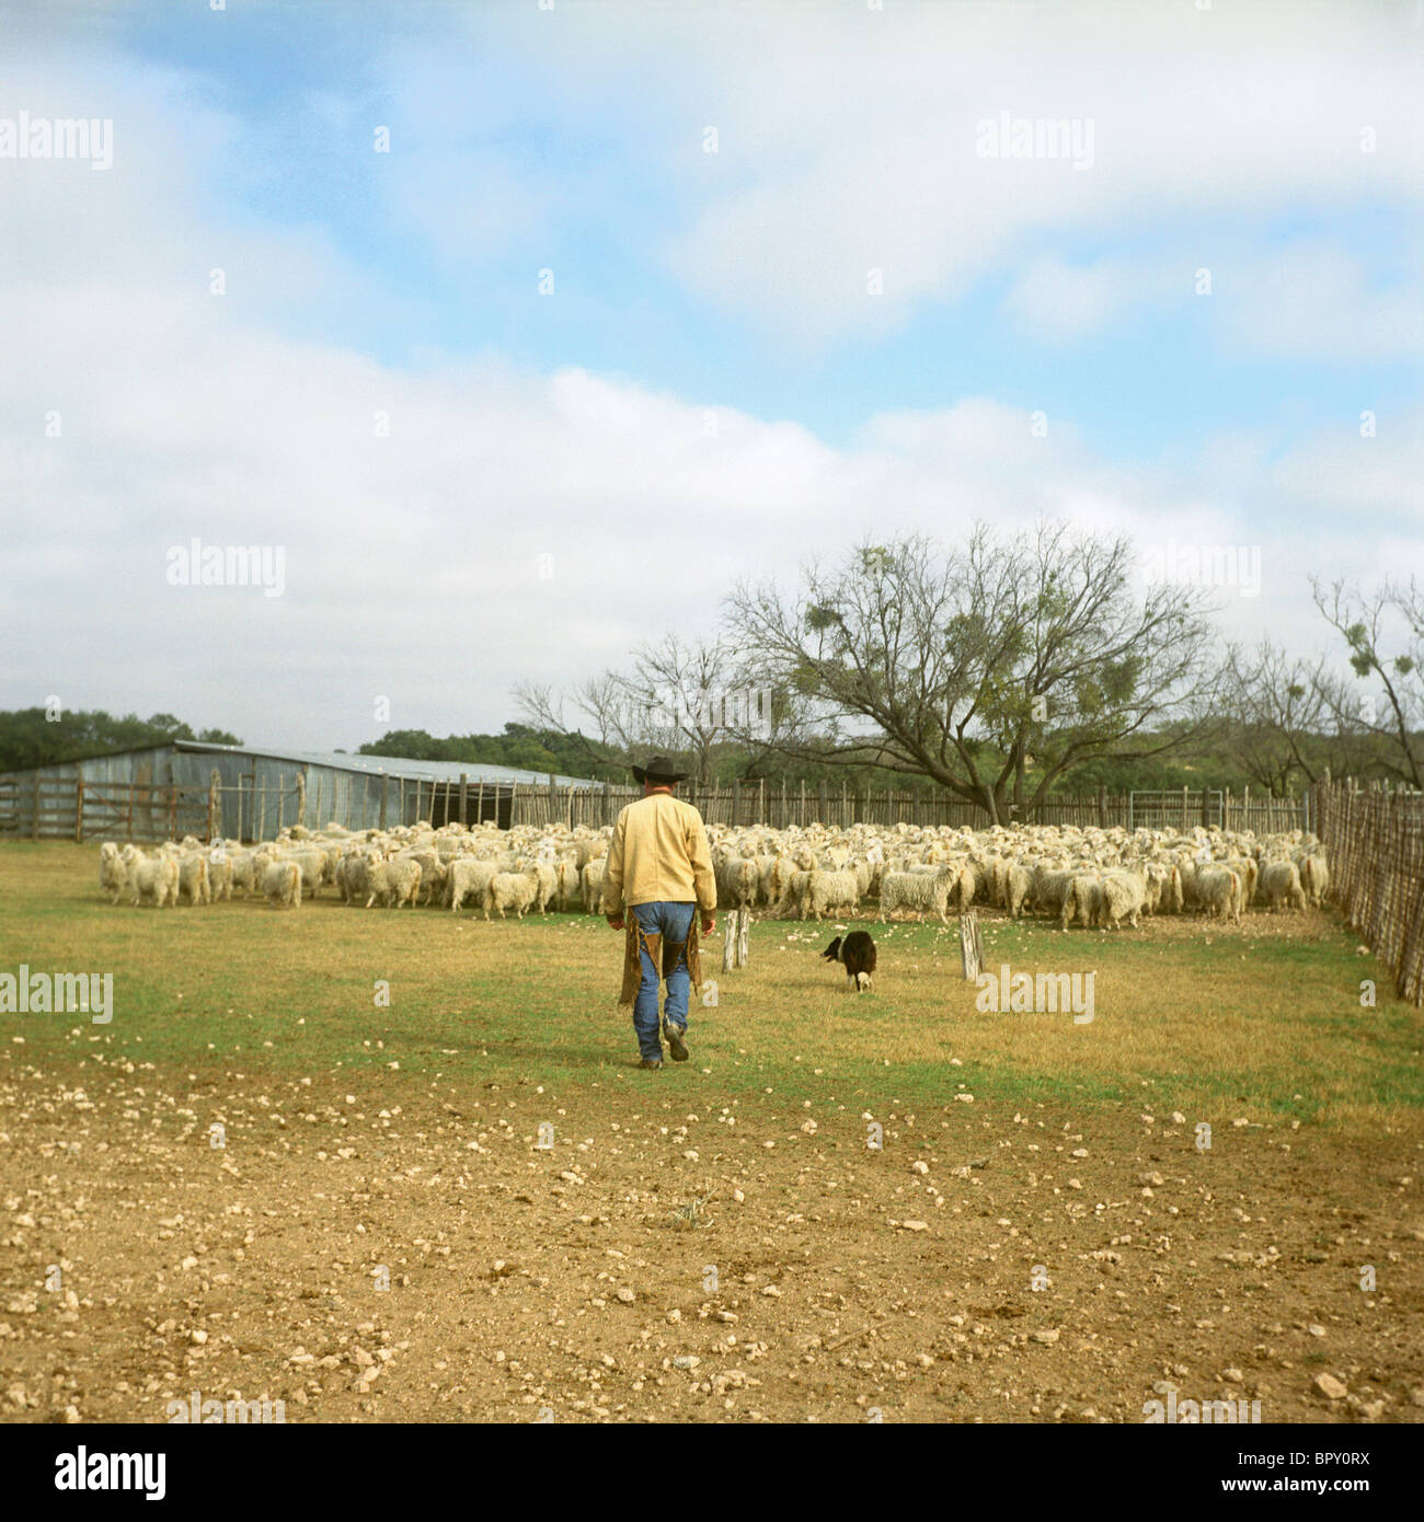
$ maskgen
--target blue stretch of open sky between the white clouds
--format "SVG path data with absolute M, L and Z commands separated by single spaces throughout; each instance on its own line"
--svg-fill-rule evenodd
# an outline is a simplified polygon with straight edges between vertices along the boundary
M 813 8 L 784 9 L 815 29 Z M 623 14 L 637 24 L 638 8 Z M 1384 8 L 1377 14 L 1380 46 L 1394 32 L 1418 55 L 1418 29 L 1401 29 Z M 701 149 L 701 117 L 717 114 L 714 91 L 701 116 L 676 90 L 656 85 L 643 99 L 597 88 L 568 96 L 568 67 L 550 67 L 538 35 L 560 21 L 528 3 L 341 9 L 233 0 L 222 15 L 163 5 L 134 12 L 116 41 L 136 59 L 198 76 L 242 123 L 213 164 L 215 212 L 292 230 L 317 224 L 401 303 L 385 321 L 376 312 L 362 321 L 362 314 L 327 310 L 314 327 L 391 365 L 416 362 L 426 349 L 474 355 L 493 345 L 542 370 L 577 364 L 708 405 L 792 419 L 835 443 L 853 438 L 876 411 L 993 396 L 1071 414 L 1113 452 L 1142 458 L 1185 434 L 1243 425 L 1282 428 L 1288 443 L 1290 432 L 1349 412 L 1362 387 L 1381 406 L 1418 399 L 1416 350 L 1322 356 L 1310 365 L 1243 355 L 1223 339 L 1224 303 L 1193 292 L 1193 272 L 1214 263 L 1217 250 L 1253 245 L 1269 257 L 1317 239 L 1348 248 L 1375 288 L 1415 279 L 1418 204 L 1375 193 L 1363 175 L 1328 210 L 1311 204 L 1307 186 L 1260 213 L 1193 210 L 1086 236 L 1068 227 L 1026 237 L 1025 259 L 1092 266 L 1127 256 L 1179 279 L 1174 300 L 1078 342 L 1045 342 L 1007 320 L 1011 266 L 984 269 L 959 300 L 923 300 L 909 320 L 851 339 L 778 342 L 754 317 L 688 289 L 664 259 L 707 196 L 739 175 L 736 167 L 726 174 L 736 158 L 728 145 L 716 157 Z M 448 52 L 442 37 L 455 40 Z M 431 52 L 422 53 L 422 43 Z M 422 120 L 391 88 L 393 76 L 410 82 L 422 72 L 434 99 L 460 97 L 460 120 L 448 110 Z M 349 110 L 346 120 L 332 120 L 318 103 L 337 100 Z M 391 125 L 388 117 L 399 117 L 393 154 L 367 152 L 373 126 Z M 640 151 L 649 137 L 672 132 L 685 134 L 684 154 Z M 720 132 L 734 139 L 734 123 Z M 506 236 L 490 204 L 487 224 L 477 216 L 457 251 L 433 245 L 390 216 L 382 195 L 404 157 L 426 151 L 448 154 L 454 186 L 461 170 L 496 167 L 542 199 L 544 215 L 524 236 Z M 556 271 L 565 300 L 539 297 L 541 268 Z M 1218 277 L 1229 280 L 1229 271 Z

